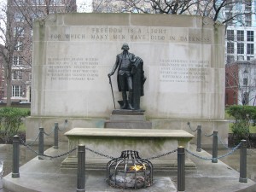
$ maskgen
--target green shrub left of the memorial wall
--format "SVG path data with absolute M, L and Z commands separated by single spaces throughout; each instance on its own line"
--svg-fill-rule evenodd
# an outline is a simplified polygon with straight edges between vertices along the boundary
M 0 131 L 4 143 L 12 141 L 26 116 L 27 112 L 19 108 L 0 108 Z

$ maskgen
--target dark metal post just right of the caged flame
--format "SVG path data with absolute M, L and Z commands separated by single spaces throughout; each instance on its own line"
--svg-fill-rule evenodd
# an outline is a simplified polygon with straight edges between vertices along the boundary
M 177 148 L 177 191 L 185 191 L 185 149 Z

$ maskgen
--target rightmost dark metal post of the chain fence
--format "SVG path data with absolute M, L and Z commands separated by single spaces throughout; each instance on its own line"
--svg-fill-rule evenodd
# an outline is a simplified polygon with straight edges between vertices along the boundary
M 247 183 L 247 141 L 241 140 L 239 182 Z

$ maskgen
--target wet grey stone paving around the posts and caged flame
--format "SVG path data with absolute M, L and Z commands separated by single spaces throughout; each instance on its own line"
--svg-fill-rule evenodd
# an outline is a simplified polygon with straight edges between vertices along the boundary
M 57 155 L 67 152 L 67 143 L 60 143 L 59 149 L 49 148 L 45 154 Z M 206 151 L 195 152 L 195 146 L 190 148 L 196 154 L 211 157 Z M 256 156 L 256 155 L 255 155 Z M 255 159 L 254 156 L 254 159 Z M 30 192 L 71 192 L 76 191 L 76 170 L 61 170 L 61 161 L 65 157 L 53 160 L 30 160 L 20 167 L 20 177 L 12 178 L 11 174 L 3 178 L 3 186 L 11 191 Z M 185 186 L 188 192 L 255 192 L 256 183 L 248 179 L 247 183 L 239 183 L 239 172 L 227 166 L 220 160 L 201 160 L 191 156 L 195 162 L 196 171 L 186 172 Z M 120 192 L 134 191 L 129 189 L 114 189 L 105 181 L 106 172 L 86 172 L 86 192 Z M 8 190 L 7 190 L 8 191 Z M 154 172 L 154 184 L 147 189 L 137 189 L 138 192 L 176 192 L 177 172 Z

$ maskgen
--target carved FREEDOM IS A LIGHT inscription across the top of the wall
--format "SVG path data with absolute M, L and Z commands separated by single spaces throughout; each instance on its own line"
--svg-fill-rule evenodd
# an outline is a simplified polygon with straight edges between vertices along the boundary
M 59 26 L 48 31 L 49 41 L 123 41 L 212 44 L 212 30 L 163 26 Z

